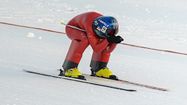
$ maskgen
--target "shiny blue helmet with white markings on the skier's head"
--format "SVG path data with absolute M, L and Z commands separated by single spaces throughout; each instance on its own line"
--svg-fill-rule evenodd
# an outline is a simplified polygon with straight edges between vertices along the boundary
M 93 31 L 101 38 L 106 38 L 118 33 L 118 22 L 111 16 L 100 16 L 93 22 Z

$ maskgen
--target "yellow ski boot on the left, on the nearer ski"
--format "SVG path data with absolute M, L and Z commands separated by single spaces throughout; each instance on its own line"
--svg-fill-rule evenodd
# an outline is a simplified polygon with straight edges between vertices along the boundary
M 65 77 L 86 80 L 85 77 L 81 74 L 81 72 L 77 68 L 72 68 L 72 69 L 68 69 L 68 70 L 64 70 L 64 71 L 62 69 L 60 69 L 59 76 L 65 76 Z

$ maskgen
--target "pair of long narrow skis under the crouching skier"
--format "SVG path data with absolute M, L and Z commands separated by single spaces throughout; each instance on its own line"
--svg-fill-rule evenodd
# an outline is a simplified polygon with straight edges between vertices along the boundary
M 90 85 L 111 88 L 111 89 L 116 89 L 116 90 L 121 90 L 121 91 L 128 91 L 128 92 L 136 92 L 137 91 L 136 89 L 127 89 L 127 88 L 122 88 L 122 87 L 118 87 L 118 86 L 106 85 L 106 84 L 102 84 L 102 83 L 93 82 L 90 80 L 81 80 L 81 79 L 69 78 L 69 77 L 65 77 L 65 76 L 56 76 L 56 75 L 52 75 L 52 74 L 41 73 L 41 72 L 36 72 L 36 71 L 31 71 L 31 70 L 26 70 L 26 69 L 23 69 L 23 71 L 26 73 L 31 73 L 31 74 L 35 74 L 35 75 L 46 76 L 46 77 L 51 77 L 51 78 L 58 78 L 58 79 L 69 80 L 69 81 L 74 81 L 74 82 L 80 82 L 80 83 L 84 83 L 84 84 L 90 84 Z M 87 74 L 84 74 L 84 75 L 86 77 L 89 76 Z M 93 77 L 93 79 L 94 78 L 98 78 L 98 77 Z M 119 80 L 110 80 L 110 81 L 113 81 L 113 82 L 117 81 L 117 82 L 124 83 L 124 84 L 131 84 L 131 85 L 140 86 L 140 87 L 144 87 L 144 88 L 148 88 L 148 89 L 159 90 L 159 91 L 168 91 L 165 88 L 135 83 L 135 82 L 127 81 L 127 80 L 119 79 Z

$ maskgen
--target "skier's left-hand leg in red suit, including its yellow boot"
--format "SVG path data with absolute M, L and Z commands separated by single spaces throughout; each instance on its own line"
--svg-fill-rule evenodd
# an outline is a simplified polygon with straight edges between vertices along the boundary
M 88 39 L 86 34 L 81 31 L 66 28 L 66 33 L 72 42 L 62 65 L 64 72 L 61 72 L 59 75 L 84 79 L 84 76 L 77 67 L 82 58 L 82 53 L 89 45 Z

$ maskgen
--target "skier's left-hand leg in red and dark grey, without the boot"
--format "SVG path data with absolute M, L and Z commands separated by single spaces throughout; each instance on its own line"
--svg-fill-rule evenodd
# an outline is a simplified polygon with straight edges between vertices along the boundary
M 62 66 L 64 70 L 76 68 L 78 66 L 82 53 L 89 44 L 85 32 L 66 27 L 66 34 L 72 42 Z

